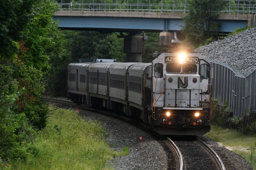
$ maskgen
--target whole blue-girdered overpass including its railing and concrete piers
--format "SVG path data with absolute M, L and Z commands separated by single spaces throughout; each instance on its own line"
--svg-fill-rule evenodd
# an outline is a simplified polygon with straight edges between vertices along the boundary
M 128 0 L 127 0 L 128 1 Z M 232 32 L 236 28 L 245 26 L 255 27 L 255 1 L 238 1 L 232 4 L 231 0 L 223 0 L 228 6 L 219 7 L 220 14 L 214 21 L 221 24 L 220 32 Z M 179 0 L 178 4 L 106 4 L 104 3 L 77 3 L 57 4 L 59 11 L 54 20 L 59 28 L 64 30 L 87 30 L 100 32 L 127 32 L 124 36 L 124 52 L 126 62 L 141 62 L 144 52 L 146 36 L 140 32 L 160 32 L 161 45 L 179 42 L 182 36 L 176 34 L 183 26 L 183 17 L 187 15 L 186 0 Z M 241 4 L 241 2 L 243 2 Z M 248 4 L 249 2 L 249 4 Z M 239 4 L 240 3 L 240 4 Z M 180 36 L 180 37 L 179 37 Z

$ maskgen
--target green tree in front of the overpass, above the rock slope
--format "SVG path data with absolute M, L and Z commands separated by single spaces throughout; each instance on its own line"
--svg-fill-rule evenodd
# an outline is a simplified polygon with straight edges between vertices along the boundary
M 184 17 L 182 33 L 186 41 L 197 47 L 206 39 L 213 38 L 213 33 L 219 30 L 220 25 L 213 21 L 219 14 L 218 6 L 221 0 L 187 0 L 189 13 Z

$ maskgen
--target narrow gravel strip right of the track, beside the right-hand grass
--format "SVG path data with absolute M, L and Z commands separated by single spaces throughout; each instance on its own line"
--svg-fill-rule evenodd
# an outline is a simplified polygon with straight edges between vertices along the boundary
M 198 138 L 211 146 L 211 148 L 219 155 L 226 170 L 253 170 L 250 163 L 243 157 L 226 149 L 224 146 L 219 146 L 213 139 L 207 136 L 198 136 Z

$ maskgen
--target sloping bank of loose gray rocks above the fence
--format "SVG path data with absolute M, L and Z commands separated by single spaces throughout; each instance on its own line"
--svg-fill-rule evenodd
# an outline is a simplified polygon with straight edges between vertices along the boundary
M 238 75 L 246 77 L 256 69 L 256 28 L 201 46 L 196 52 L 206 58 L 227 64 Z

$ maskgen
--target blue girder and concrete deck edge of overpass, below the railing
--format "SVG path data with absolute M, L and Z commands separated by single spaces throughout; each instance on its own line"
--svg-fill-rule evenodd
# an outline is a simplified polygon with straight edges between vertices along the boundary
M 187 13 L 112 12 L 112 11 L 58 11 L 61 29 L 110 32 L 178 31 Z M 255 26 L 252 14 L 219 14 L 215 21 L 221 24 L 220 32 L 232 32 L 245 26 Z

